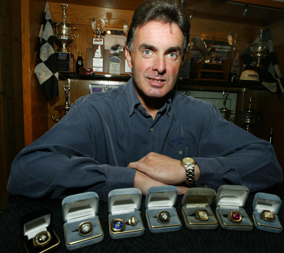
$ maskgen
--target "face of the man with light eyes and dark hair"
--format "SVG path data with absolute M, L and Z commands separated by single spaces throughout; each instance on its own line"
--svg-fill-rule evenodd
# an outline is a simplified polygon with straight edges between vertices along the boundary
M 177 24 L 150 21 L 137 28 L 133 52 L 125 51 L 138 98 L 162 98 L 175 86 L 183 62 L 183 34 Z

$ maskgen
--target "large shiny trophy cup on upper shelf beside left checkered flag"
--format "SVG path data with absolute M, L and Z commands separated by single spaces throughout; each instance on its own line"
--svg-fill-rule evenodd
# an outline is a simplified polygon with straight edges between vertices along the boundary
M 70 47 L 73 45 L 74 40 L 76 38 L 76 34 L 73 34 L 74 28 L 65 22 L 66 19 L 66 10 L 68 8 L 68 4 L 61 4 L 61 9 L 63 12 L 63 22 L 52 23 L 55 27 L 54 42 L 59 46 L 57 51 L 59 52 L 69 52 Z

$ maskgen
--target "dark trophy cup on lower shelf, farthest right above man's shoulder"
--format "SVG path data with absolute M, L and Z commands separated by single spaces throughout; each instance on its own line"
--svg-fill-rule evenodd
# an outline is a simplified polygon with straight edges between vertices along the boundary
M 254 133 L 253 128 L 259 121 L 259 112 L 251 109 L 252 98 L 253 96 L 251 95 L 251 97 L 249 98 L 249 108 L 240 110 L 241 116 L 239 117 L 243 129 L 250 133 Z

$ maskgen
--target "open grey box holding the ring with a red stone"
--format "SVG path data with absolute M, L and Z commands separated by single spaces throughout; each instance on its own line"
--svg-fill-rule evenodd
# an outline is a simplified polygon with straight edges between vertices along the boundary
M 249 196 L 249 188 L 242 185 L 221 185 L 216 197 L 216 216 L 221 227 L 228 230 L 252 230 L 254 224 L 243 207 Z M 241 214 L 241 222 L 228 219 L 230 211 Z

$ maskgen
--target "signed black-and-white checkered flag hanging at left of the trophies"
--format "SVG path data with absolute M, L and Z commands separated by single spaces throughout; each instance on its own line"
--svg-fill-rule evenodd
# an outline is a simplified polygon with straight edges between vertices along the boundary
M 50 101 L 59 95 L 58 70 L 53 38 L 51 14 L 49 12 L 48 2 L 46 2 L 41 29 L 35 48 L 38 59 L 37 65 L 35 66 L 35 74 L 38 77 L 43 92 Z

